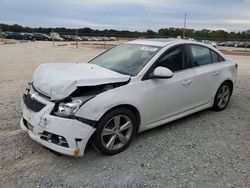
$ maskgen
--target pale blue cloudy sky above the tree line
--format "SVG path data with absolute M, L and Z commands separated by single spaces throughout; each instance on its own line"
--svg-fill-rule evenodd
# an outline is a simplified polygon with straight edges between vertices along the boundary
M 158 31 L 166 27 L 250 29 L 250 0 L 0 0 L 0 23 Z

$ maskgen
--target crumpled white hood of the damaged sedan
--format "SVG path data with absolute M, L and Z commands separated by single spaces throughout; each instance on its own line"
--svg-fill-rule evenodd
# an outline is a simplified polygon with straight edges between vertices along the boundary
M 126 82 L 129 79 L 130 76 L 94 64 L 50 63 L 38 66 L 33 74 L 33 85 L 51 100 L 59 100 L 77 87 Z

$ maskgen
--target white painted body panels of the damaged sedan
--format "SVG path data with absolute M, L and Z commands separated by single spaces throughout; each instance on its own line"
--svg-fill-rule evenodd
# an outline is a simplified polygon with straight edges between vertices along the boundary
M 113 107 L 124 104 L 131 105 L 140 114 L 139 132 L 142 132 L 211 107 L 219 86 L 225 80 L 231 80 L 235 83 L 237 75 L 235 64 L 212 47 L 209 48 L 222 55 L 226 59 L 225 62 L 189 68 L 174 74 L 166 68 L 164 70 L 157 68 L 156 74 L 172 77 L 142 80 L 144 74 L 157 58 L 170 47 L 184 43 L 200 43 L 183 40 L 168 40 L 165 42 L 154 40 L 152 43 L 150 43 L 150 40 L 140 40 L 129 43 L 151 46 L 160 43 L 163 48 L 137 76 L 131 78 L 128 84 L 96 95 L 80 107 L 75 114 L 76 116 L 98 121 Z M 95 86 L 128 81 L 129 79 L 129 76 L 91 64 L 45 64 L 35 71 L 33 82 L 39 90 L 50 94 L 54 99 L 60 99 L 73 92 L 77 86 Z M 31 94 L 34 93 L 32 89 L 30 92 Z M 50 149 L 67 155 L 73 155 L 73 151 L 77 147 L 75 139 L 82 138 L 79 145 L 80 155 L 82 156 L 86 143 L 95 129 L 77 120 L 51 115 L 55 104 L 39 95 L 33 96 L 35 100 L 46 104 L 46 107 L 35 113 L 28 110 L 22 103 L 23 117 L 34 126 L 33 132 L 28 131 L 30 137 Z M 22 120 L 21 127 L 27 130 Z M 44 130 L 65 137 L 70 147 L 64 148 L 41 140 L 39 135 Z

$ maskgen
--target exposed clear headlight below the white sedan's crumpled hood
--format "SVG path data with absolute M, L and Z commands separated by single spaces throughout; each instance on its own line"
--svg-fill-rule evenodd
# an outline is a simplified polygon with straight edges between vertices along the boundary
M 81 99 L 75 99 L 67 103 L 60 102 L 58 107 L 54 110 L 54 114 L 60 117 L 70 117 L 77 112 L 82 104 L 83 101 Z

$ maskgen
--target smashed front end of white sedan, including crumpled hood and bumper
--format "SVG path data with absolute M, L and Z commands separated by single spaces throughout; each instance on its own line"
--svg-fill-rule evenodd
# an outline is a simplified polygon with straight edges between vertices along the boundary
M 75 116 L 98 94 L 127 84 L 130 76 L 90 64 L 42 64 L 22 99 L 20 126 L 56 152 L 83 156 L 96 122 Z

